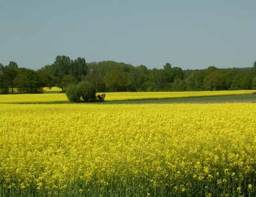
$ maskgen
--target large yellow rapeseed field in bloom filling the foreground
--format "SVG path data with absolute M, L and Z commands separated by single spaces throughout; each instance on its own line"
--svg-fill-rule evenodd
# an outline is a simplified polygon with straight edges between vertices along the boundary
M 255 196 L 255 104 L 0 104 L 0 196 Z

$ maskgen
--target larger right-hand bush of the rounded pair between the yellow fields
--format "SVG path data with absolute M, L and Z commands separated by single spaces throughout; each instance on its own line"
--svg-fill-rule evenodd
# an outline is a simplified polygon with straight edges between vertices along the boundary
M 76 88 L 77 93 L 84 101 L 91 101 L 96 98 L 96 88 L 91 82 L 80 82 Z

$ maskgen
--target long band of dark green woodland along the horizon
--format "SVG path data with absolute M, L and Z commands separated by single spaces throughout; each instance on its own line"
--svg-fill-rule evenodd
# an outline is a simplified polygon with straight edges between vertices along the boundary
M 161 69 L 132 66 L 124 62 L 102 61 L 86 63 L 58 55 L 51 65 L 33 70 L 19 68 L 16 62 L 0 64 L 0 94 L 43 93 L 45 87 L 92 82 L 97 92 L 153 91 L 221 91 L 256 89 L 256 61 L 249 68 L 182 70 L 170 63 Z

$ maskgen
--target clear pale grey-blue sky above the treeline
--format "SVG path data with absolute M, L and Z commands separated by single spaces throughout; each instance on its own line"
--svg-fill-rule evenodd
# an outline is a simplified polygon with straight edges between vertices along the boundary
M 57 55 L 148 68 L 252 67 L 256 1 L 0 1 L 0 63 Z

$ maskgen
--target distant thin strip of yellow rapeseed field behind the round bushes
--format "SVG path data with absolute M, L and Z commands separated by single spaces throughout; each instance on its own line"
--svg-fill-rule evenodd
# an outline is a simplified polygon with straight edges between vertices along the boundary
M 57 88 L 53 88 L 55 90 Z M 202 91 L 202 92 L 106 92 L 105 101 L 127 101 L 143 99 L 193 98 L 204 96 L 225 96 L 251 94 L 251 91 Z M 102 94 L 102 93 L 97 93 Z M 7 94 L 0 95 L 0 103 L 65 102 L 65 94 Z

